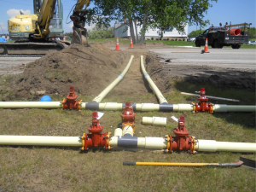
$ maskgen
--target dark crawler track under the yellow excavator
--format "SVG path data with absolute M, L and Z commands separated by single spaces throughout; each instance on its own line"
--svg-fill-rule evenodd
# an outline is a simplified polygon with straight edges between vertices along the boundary
M 61 42 L 49 43 L 2 43 L 0 44 L 0 56 L 42 56 L 49 53 L 51 50 L 65 49 L 65 45 Z

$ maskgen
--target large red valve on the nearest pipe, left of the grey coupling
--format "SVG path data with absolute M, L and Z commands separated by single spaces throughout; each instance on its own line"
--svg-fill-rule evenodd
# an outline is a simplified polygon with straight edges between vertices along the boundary
M 88 131 L 90 133 L 84 133 L 82 137 L 83 147 L 80 148 L 81 150 L 89 150 L 89 148 L 100 148 L 103 147 L 104 149 L 110 149 L 109 145 L 109 138 L 110 133 L 103 131 L 103 125 L 100 125 L 98 113 L 92 113 L 92 124 L 90 125 Z

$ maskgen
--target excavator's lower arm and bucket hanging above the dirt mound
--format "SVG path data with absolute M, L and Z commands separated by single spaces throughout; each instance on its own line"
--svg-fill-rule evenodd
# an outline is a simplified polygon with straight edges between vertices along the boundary
M 89 5 L 90 0 L 78 0 L 75 9 L 73 9 L 73 15 L 70 16 L 70 19 L 73 20 L 73 36 L 71 44 L 88 45 L 88 33 L 87 30 L 84 28 L 86 20 L 86 17 L 84 15 L 88 13 L 87 7 Z

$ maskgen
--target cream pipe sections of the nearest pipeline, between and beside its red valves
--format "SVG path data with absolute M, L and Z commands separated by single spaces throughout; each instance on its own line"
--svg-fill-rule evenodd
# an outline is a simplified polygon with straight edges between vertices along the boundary
M 111 137 L 109 140 L 110 146 L 117 147 L 119 137 Z M 3 136 L 2 135 L 0 136 L 0 145 L 82 147 L 82 142 L 79 137 Z M 162 137 L 137 137 L 138 148 L 164 149 L 166 148 L 166 145 L 167 145 L 167 142 L 165 138 L 162 138 Z M 230 151 L 230 152 L 256 153 L 256 143 L 216 142 L 214 140 L 198 139 L 197 143 L 195 143 L 195 150 L 206 151 L 206 152 Z

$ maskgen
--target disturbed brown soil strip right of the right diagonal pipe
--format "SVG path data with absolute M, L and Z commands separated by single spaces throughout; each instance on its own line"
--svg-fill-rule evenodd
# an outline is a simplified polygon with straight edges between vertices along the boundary
M 224 88 L 256 90 L 255 71 L 211 66 L 172 65 L 170 61 L 148 53 L 147 72 L 162 92 L 172 89 L 172 79 L 183 79 L 190 83 L 209 83 Z

